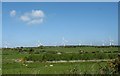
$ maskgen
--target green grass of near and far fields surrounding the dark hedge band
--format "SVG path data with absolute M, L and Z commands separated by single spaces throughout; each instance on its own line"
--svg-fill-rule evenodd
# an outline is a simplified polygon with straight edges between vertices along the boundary
M 15 59 L 20 59 L 24 57 L 29 57 L 29 48 L 23 48 L 26 50 L 25 52 L 18 52 L 17 49 L 3 49 L 2 50 L 2 73 L 3 74 L 69 74 L 74 68 L 77 69 L 77 73 L 85 74 L 85 73 L 93 73 L 97 74 L 100 72 L 100 66 L 97 62 L 75 62 L 75 63 L 46 63 L 46 62 L 34 62 L 27 63 L 28 67 L 24 66 L 22 63 L 14 62 Z M 34 55 L 44 54 L 45 51 L 49 54 L 53 52 L 62 52 L 67 57 L 68 54 L 76 54 L 76 56 L 80 53 L 80 51 L 87 52 L 83 54 L 83 58 L 90 57 L 92 59 L 96 59 L 96 56 L 101 55 L 103 59 L 110 59 L 106 56 L 117 56 L 118 47 L 33 47 L 35 52 L 39 52 Z M 96 53 L 92 53 L 96 52 Z M 52 54 L 51 54 L 52 55 Z M 51 56 L 50 56 L 51 57 Z M 49 57 L 49 58 L 50 58 Z M 69 57 L 69 56 L 68 56 Z M 53 67 L 49 65 L 52 64 Z M 107 62 L 99 62 L 99 64 L 104 67 L 107 65 Z M 45 67 L 47 66 L 47 67 Z

